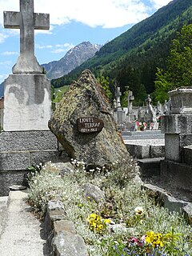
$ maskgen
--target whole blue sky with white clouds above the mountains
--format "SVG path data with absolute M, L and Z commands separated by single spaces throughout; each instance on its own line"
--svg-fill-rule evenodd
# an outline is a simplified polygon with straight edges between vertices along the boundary
M 50 14 L 50 30 L 35 31 L 40 64 L 62 58 L 81 42 L 105 44 L 154 14 L 170 0 L 34 0 L 34 12 Z M 3 10 L 19 11 L 19 0 L 0 0 L 0 83 L 17 62 L 19 30 L 3 27 Z

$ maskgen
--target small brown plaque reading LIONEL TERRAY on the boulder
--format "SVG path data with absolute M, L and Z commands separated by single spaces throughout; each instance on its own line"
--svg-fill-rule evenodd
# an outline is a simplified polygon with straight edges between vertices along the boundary
M 78 131 L 81 133 L 94 133 L 104 127 L 102 119 L 94 117 L 78 118 Z

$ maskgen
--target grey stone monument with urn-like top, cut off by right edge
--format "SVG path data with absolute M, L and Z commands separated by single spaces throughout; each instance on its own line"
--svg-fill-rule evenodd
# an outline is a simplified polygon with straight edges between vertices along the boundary
M 173 182 L 182 190 L 192 191 L 192 88 L 178 88 L 169 92 L 170 114 L 162 116 L 165 134 L 163 176 L 171 174 Z

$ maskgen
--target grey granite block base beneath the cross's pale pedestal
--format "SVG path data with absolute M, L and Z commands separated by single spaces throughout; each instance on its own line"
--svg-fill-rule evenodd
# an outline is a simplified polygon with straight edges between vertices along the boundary
M 65 161 L 58 140 L 49 130 L 2 132 L 0 134 L 0 195 L 12 185 L 26 185 L 29 166 Z

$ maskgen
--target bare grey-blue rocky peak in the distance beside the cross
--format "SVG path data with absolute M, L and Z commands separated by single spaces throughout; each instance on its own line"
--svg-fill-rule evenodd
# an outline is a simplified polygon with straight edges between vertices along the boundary
M 60 78 L 64 74 L 70 73 L 71 70 L 74 70 L 74 68 L 80 66 L 89 58 L 92 58 L 101 47 L 100 45 L 93 45 L 90 42 L 82 42 L 78 46 L 70 49 L 59 61 L 42 64 L 46 69 L 47 78 Z

